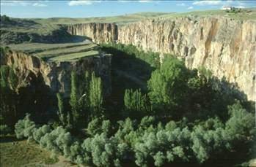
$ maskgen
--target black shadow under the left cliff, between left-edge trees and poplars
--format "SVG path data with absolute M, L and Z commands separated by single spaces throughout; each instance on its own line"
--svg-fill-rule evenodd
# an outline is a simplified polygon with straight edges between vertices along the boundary
M 56 96 L 48 85 L 45 85 L 42 74 L 36 76 L 29 72 L 29 84 L 18 89 L 18 110 L 30 113 L 37 123 L 47 123 L 54 119 L 56 113 Z

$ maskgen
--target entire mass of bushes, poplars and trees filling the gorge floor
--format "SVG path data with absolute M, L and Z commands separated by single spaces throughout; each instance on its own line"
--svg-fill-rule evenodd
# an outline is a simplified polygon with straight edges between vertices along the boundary
M 113 71 L 142 81 L 123 85 L 122 92 L 113 87 L 122 95 L 118 110 L 109 107 L 99 77 L 72 73 L 70 98 L 56 95 L 59 119 L 40 125 L 28 114 L 15 124 L 18 139 L 95 166 L 207 164 L 241 149 L 249 156 L 256 137 L 254 107 L 235 85 L 207 69 L 187 69 L 171 55 L 160 66 L 158 53 L 132 45 L 104 44 L 102 50 L 113 54 Z

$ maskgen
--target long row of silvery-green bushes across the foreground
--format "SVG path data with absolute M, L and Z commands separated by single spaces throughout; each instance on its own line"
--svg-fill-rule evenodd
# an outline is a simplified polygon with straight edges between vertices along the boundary
M 188 124 L 186 119 L 166 125 L 155 117 L 143 117 L 140 122 L 127 118 L 119 121 L 116 131 L 104 120 L 101 126 L 92 126 L 92 137 L 78 140 L 62 127 L 52 129 L 49 125 L 37 127 L 27 115 L 15 125 L 18 139 L 23 137 L 36 141 L 40 147 L 54 154 L 65 155 L 78 164 L 95 166 L 122 166 L 135 162 L 137 166 L 155 166 L 174 162 L 204 163 L 214 155 L 234 150 L 236 144 L 253 141 L 255 120 L 237 103 L 229 106 L 230 118 L 222 123 L 210 118 L 200 123 Z M 92 131 L 93 130 L 93 131 Z

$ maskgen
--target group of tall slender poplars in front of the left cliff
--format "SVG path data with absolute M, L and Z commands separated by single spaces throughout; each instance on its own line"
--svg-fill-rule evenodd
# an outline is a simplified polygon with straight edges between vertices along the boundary
M 79 79 L 78 79 L 79 78 Z M 79 82 L 79 85 L 78 85 Z M 69 106 L 60 93 L 58 99 L 59 123 L 66 128 L 85 128 L 90 120 L 103 115 L 103 92 L 100 77 L 85 71 L 84 76 L 71 73 Z

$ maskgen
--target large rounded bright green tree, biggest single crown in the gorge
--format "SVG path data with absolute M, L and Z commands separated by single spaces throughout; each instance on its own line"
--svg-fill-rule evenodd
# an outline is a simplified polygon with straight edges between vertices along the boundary
M 153 107 L 169 110 L 177 106 L 186 96 L 188 77 L 189 70 L 182 61 L 177 58 L 166 58 L 160 69 L 153 71 L 148 82 Z

